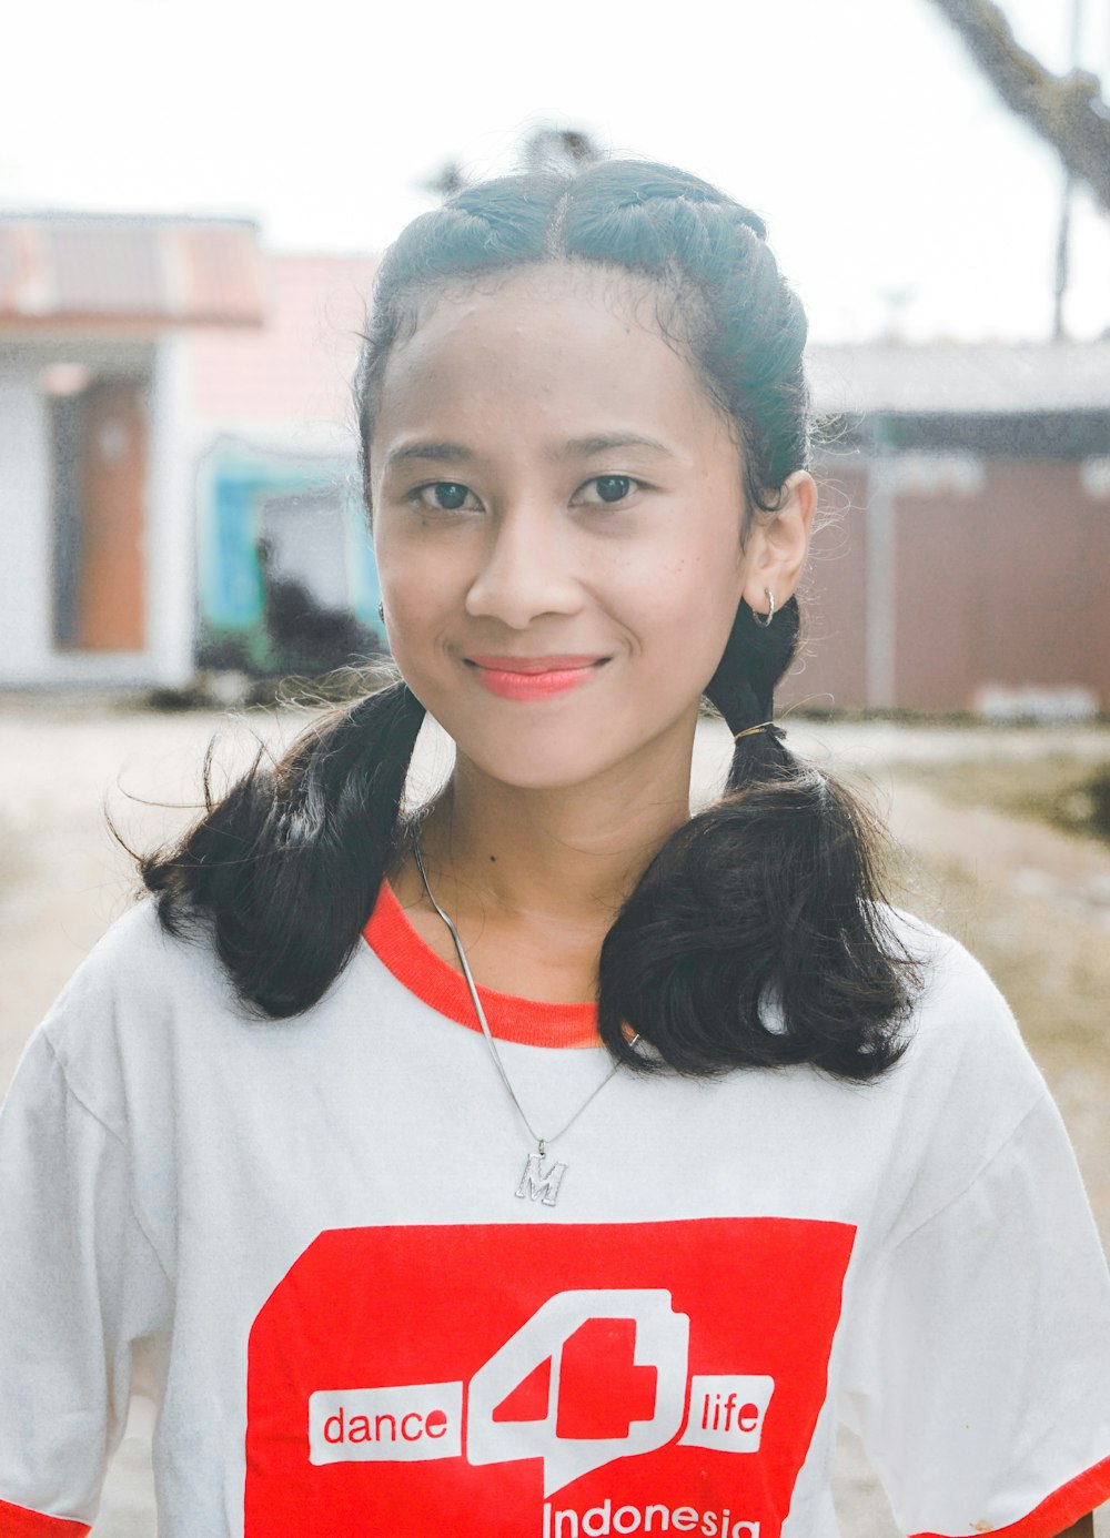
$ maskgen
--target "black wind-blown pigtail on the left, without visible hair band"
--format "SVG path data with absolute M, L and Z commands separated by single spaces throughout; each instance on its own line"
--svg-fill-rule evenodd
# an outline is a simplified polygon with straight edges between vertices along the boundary
M 424 707 L 395 683 L 263 755 L 171 849 L 140 861 L 161 926 L 204 927 L 243 1003 L 315 1004 L 358 943 L 390 864 Z

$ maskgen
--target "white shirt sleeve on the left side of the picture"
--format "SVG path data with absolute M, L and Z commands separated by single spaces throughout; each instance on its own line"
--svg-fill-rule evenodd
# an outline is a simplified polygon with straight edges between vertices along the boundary
M 120 1137 L 40 1030 L 0 1112 L 0 1535 L 80 1538 L 166 1317 Z

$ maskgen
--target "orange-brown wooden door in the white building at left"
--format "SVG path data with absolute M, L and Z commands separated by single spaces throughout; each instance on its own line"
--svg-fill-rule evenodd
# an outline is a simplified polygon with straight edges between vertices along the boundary
M 103 380 L 85 400 L 80 571 L 74 644 L 141 651 L 146 640 L 146 412 L 137 380 Z

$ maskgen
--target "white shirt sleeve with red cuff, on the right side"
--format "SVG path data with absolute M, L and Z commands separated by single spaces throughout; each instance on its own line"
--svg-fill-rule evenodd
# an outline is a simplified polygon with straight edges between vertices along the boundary
M 855 1321 L 841 1413 L 902 1532 L 1050 1538 L 1110 1500 L 1110 1277 L 1047 1092 Z

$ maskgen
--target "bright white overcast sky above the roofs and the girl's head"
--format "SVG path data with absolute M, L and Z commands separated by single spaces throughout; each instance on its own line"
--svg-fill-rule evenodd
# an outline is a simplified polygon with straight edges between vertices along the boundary
M 1005 0 L 1056 69 L 1072 5 Z M 930 0 L 23 0 L 5 43 L 0 209 L 234 212 L 277 251 L 377 251 L 444 160 L 504 169 L 546 122 L 756 208 L 821 340 L 1050 331 L 1062 172 Z M 1110 0 L 1082 60 L 1110 75 Z M 1110 329 L 1085 197 L 1068 323 Z

